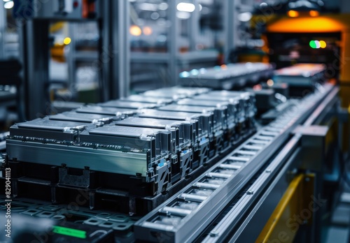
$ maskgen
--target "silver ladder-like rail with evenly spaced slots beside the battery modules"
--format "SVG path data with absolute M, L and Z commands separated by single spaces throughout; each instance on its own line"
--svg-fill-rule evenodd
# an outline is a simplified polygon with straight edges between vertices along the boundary
M 200 229 L 207 227 L 285 142 L 289 131 L 304 121 L 330 90 L 332 86 L 326 85 L 322 92 L 303 98 L 193 183 L 147 214 L 135 224 L 137 239 L 153 242 L 194 240 Z

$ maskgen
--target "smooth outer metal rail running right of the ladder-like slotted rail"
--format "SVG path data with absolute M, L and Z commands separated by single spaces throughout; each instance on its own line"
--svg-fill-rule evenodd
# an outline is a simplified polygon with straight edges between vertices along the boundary
M 339 88 L 334 88 L 327 97 L 325 97 L 320 105 L 312 112 L 312 114 L 307 118 L 306 121 L 302 124 L 302 126 L 310 126 L 311 124 L 314 124 L 314 122 L 321 116 L 321 114 L 327 114 L 329 110 L 326 108 L 332 108 L 334 107 L 335 102 L 337 101 L 337 94 L 339 92 Z M 286 145 L 281 149 L 279 154 L 274 157 L 274 159 L 267 165 L 267 167 L 263 170 L 263 172 L 255 179 L 255 181 L 248 185 L 246 190 L 246 193 L 242 195 L 239 199 L 235 198 L 230 202 L 223 212 L 218 216 L 218 219 L 211 222 L 211 225 L 213 227 L 210 227 L 208 231 L 205 230 L 203 234 L 207 235 L 207 237 L 202 237 L 201 239 L 198 238 L 197 241 L 201 242 L 235 242 L 238 237 L 240 237 L 241 232 L 244 230 L 244 227 L 246 223 L 249 222 L 249 220 L 253 217 L 256 210 L 258 210 L 258 205 L 255 207 L 255 209 L 252 209 L 252 212 L 249 212 L 249 215 L 246 216 L 246 218 L 243 220 L 244 223 L 239 223 L 239 227 L 237 227 L 237 231 L 231 235 L 232 228 L 235 226 L 235 223 L 237 223 L 239 220 L 241 220 L 242 215 L 246 211 L 246 209 L 251 205 L 251 202 L 253 202 L 256 198 L 259 198 L 260 202 L 264 200 L 264 197 L 268 195 L 268 193 L 264 193 L 263 196 L 260 196 L 259 191 L 262 191 L 263 187 L 266 185 L 266 183 L 269 181 L 269 179 L 274 178 L 273 184 L 276 184 L 279 182 L 279 179 L 282 177 L 286 170 L 288 170 L 290 163 L 293 163 L 292 157 L 295 155 L 292 155 L 295 150 L 298 147 L 298 142 L 300 141 L 300 138 L 302 138 L 302 135 L 300 133 L 295 133 L 292 138 L 286 143 Z M 290 157 L 292 155 L 292 157 Z M 283 161 L 286 161 L 286 163 L 283 163 Z M 281 169 L 281 167 L 283 168 Z M 280 170 L 283 170 L 281 172 Z M 278 175 L 277 175 L 278 174 Z M 273 187 L 273 186 L 271 186 Z M 267 191 L 272 189 L 267 189 Z M 253 195 L 254 194 L 254 195 Z M 230 235 L 229 235 L 230 234 Z

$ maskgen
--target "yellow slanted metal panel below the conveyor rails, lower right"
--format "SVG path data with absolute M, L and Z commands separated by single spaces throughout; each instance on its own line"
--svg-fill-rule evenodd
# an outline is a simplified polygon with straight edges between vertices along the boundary
M 300 226 L 312 223 L 313 197 L 314 175 L 297 175 L 255 242 L 293 242 Z

